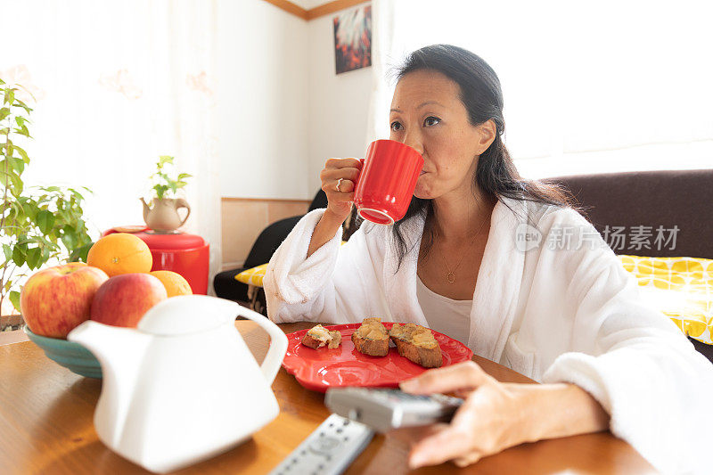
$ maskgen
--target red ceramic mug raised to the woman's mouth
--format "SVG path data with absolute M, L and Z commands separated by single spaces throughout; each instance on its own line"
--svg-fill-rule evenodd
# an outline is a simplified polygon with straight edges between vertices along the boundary
M 422 168 L 421 153 L 404 143 L 369 144 L 354 192 L 359 216 L 379 225 L 393 225 L 404 217 Z

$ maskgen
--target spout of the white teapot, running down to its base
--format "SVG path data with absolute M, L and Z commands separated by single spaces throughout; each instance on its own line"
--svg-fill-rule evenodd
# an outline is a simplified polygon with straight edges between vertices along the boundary
M 102 364 L 102 395 L 94 426 L 100 438 L 106 438 L 104 443 L 118 446 L 143 356 L 153 337 L 133 328 L 89 320 L 72 330 L 67 340 L 87 348 Z

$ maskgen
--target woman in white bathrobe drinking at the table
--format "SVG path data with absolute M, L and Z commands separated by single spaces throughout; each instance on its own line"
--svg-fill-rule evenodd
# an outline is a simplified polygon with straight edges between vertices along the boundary
M 660 471 L 701 470 L 713 367 L 643 305 L 561 192 L 517 175 L 496 73 L 473 53 L 432 45 L 397 77 L 390 138 L 425 160 L 406 217 L 365 223 L 340 246 L 359 163 L 327 160 L 327 209 L 307 214 L 267 268 L 270 318 L 419 323 L 543 383 L 500 383 L 474 363 L 405 381 L 406 391 L 466 397 L 450 424 L 418 433 L 412 467 L 610 429 Z M 556 127 L 538 127 L 547 126 Z

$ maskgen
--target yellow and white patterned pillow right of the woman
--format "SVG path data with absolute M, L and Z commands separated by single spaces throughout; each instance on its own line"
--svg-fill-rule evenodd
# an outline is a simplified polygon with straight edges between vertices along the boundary
M 713 260 L 619 256 L 644 297 L 686 335 L 713 345 Z

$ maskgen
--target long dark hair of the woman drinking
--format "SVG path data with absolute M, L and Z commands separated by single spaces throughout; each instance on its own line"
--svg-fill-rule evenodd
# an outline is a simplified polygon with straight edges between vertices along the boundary
M 417 70 L 437 71 L 453 80 L 460 87 L 460 99 L 468 111 L 472 126 L 478 126 L 489 119 L 496 125 L 496 138 L 488 150 L 480 155 L 478 167 L 473 176 L 473 184 L 488 197 L 500 200 L 535 201 L 555 206 L 570 206 L 570 198 L 561 187 L 537 181 L 522 180 L 515 169 L 501 135 L 505 131 L 503 119 L 503 91 L 496 72 L 477 54 L 453 45 L 430 45 L 414 51 L 404 64 L 397 68 L 396 78 Z M 394 244 L 397 248 L 398 267 L 409 252 L 409 246 L 401 231 L 410 217 L 422 215 L 426 218 L 433 212 L 430 200 L 414 198 L 409 204 L 406 216 L 392 226 Z M 514 210 L 513 210 L 514 212 Z M 412 246 L 418 241 L 414 242 Z M 432 243 L 432 236 L 430 236 Z M 430 247 L 427 242 L 427 248 Z M 413 248 L 412 248 L 413 249 Z M 397 267 L 397 269 L 398 269 Z

